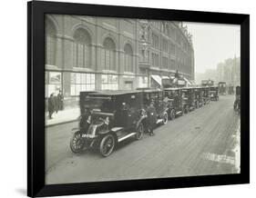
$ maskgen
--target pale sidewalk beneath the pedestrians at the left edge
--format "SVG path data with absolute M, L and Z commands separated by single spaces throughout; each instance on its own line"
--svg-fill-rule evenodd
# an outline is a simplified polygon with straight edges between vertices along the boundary
M 69 122 L 77 121 L 80 115 L 79 108 L 71 108 L 63 111 L 59 111 L 57 114 L 52 115 L 52 119 L 49 119 L 48 112 L 46 113 L 46 126 L 52 126 L 56 124 L 65 124 Z

